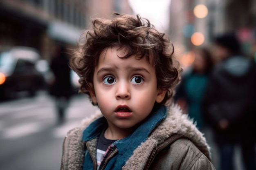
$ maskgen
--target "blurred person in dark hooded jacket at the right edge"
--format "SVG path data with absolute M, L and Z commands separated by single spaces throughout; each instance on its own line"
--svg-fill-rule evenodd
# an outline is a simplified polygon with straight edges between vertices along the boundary
M 234 170 L 234 148 L 241 146 L 246 170 L 256 170 L 255 63 L 240 51 L 234 33 L 215 38 L 220 63 L 213 70 L 204 114 L 213 128 L 220 152 L 220 170 Z

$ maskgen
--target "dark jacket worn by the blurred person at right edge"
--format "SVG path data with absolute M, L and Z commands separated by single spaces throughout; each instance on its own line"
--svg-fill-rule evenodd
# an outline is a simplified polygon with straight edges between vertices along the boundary
M 255 87 L 255 62 L 245 56 L 230 56 L 214 68 L 203 113 L 218 143 L 255 140 Z M 229 122 L 225 130 L 218 127 L 221 119 Z

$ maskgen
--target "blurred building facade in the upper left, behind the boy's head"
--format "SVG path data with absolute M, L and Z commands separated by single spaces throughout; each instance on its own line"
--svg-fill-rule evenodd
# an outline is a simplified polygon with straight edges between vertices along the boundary
M 132 13 L 127 0 L 1 0 L 0 50 L 30 46 L 50 60 L 55 44 L 76 47 L 90 18 L 113 11 Z

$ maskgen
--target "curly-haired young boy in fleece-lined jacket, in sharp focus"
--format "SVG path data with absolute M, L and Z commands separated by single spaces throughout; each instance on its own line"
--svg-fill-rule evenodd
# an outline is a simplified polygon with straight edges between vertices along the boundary
M 178 65 L 163 33 L 115 13 L 93 20 L 80 45 L 70 65 L 101 113 L 68 132 L 61 169 L 215 170 L 202 133 L 171 103 Z

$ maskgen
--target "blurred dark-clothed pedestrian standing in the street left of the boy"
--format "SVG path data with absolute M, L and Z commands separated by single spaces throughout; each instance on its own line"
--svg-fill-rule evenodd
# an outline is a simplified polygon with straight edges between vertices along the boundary
M 55 76 L 51 94 L 56 99 L 56 110 L 59 123 L 65 119 L 65 111 L 72 95 L 72 84 L 70 81 L 69 58 L 64 46 L 57 46 L 56 53 L 51 62 L 51 69 Z

